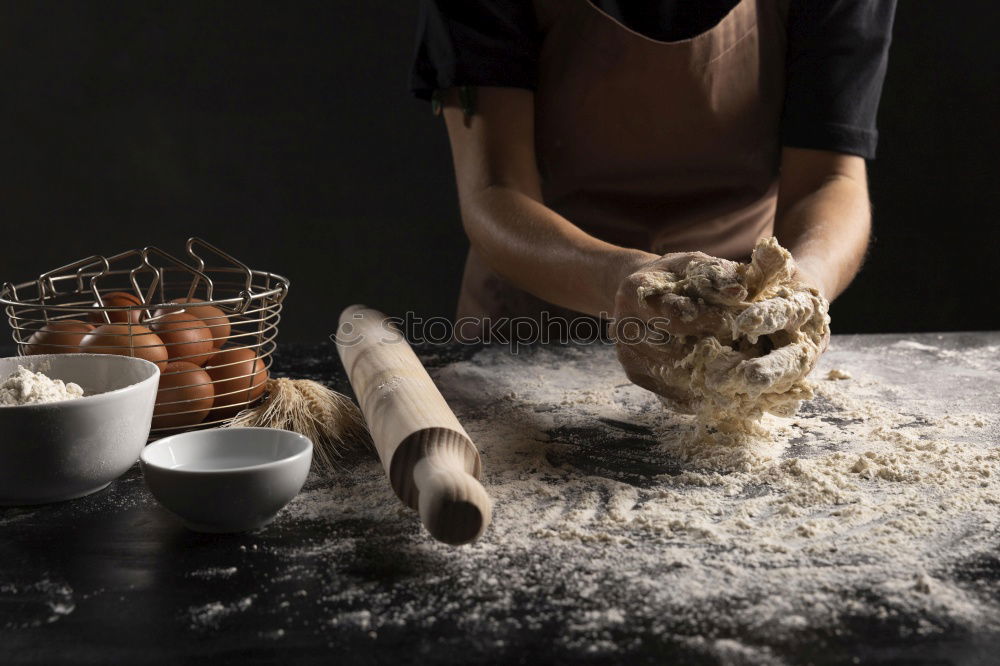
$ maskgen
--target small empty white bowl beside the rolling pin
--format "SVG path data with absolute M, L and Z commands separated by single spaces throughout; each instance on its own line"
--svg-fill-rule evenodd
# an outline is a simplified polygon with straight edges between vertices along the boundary
M 309 474 L 312 442 L 274 428 L 215 428 L 164 437 L 142 452 L 146 486 L 196 532 L 271 522 Z

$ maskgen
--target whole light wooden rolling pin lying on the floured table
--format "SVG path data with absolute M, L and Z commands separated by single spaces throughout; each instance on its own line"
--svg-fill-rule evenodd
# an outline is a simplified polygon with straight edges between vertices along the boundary
M 399 499 L 435 539 L 479 538 L 493 515 L 479 452 L 403 335 L 381 312 L 352 305 L 337 351 Z

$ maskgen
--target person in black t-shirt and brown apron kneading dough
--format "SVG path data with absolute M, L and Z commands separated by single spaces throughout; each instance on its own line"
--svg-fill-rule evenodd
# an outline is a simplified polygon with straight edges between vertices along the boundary
M 613 317 L 629 276 L 694 252 L 745 261 L 772 234 L 836 298 L 869 243 L 894 13 L 423 0 L 411 88 L 450 139 L 470 241 L 459 321 Z

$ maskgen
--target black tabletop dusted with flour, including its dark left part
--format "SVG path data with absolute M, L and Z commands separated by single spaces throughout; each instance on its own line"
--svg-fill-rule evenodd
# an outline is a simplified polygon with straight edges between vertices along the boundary
M 247 535 L 185 532 L 134 476 L 79 503 L 0 511 L 0 530 L 97 530 L 102 545 L 72 550 L 121 550 L 103 571 L 60 565 L 68 555 L 38 538 L 39 579 L 73 590 L 67 631 L 93 617 L 188 655 L 988 663 L 1000 649 L 1000 335 L 834 338 L 817 397 L 767 417 L 776 441 L 728 474 L 682 462 L 690 417 L 626 382 L 609 347 L 423 358 L 496 502 L 472 546 L 431 541 L 362 454 Z M 331 350 L 296 374 L 342 388 L 336 367 Z M 0 556 L 28 566 L 11 542 Z M 41 594 L 17 571 L 0 584 Z M 122 616 L 88 615 L 102 599 Z M 50 605 L 37 611 L 52 622 Z M 8 641 L 32 635 L 7 627 Z

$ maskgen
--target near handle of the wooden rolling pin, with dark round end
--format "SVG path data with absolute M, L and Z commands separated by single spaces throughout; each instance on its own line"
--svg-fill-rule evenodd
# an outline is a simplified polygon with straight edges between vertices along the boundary
M 475 541 L 490 524 L 492 502 L 462 458 L 428 455 L 414 466 L 413 482 L 420 520 L 435 539 L 459 546 Z

